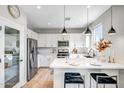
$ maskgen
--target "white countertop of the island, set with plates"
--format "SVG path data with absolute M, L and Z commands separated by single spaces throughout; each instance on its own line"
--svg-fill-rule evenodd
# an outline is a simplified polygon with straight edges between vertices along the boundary
M 124 69 L 124 63 L 99 62 L 95 58 L 56 58 L 50 68 L 79 68 L 79 69 Z

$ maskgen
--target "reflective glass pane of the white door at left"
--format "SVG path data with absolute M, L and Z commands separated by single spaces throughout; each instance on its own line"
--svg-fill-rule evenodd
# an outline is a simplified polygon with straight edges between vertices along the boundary
M 5 87 L 11 88 L 19 82 L 20 32 L 5 26 L 4 49 Z

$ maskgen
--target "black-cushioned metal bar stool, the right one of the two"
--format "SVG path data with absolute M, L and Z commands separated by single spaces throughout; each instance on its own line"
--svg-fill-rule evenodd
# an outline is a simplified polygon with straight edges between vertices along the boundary
M 98 84 L 115 84 L 116 88 L 118 88 L 117 85 L 117 76 L 108 76 L 105 73 L 90 73 L 90 88 L 91 88 L 91 78 L 93 78 L 96 81 L 96 87 L 98 88 Z M 113 79 L 115 78 L 115 79 Z

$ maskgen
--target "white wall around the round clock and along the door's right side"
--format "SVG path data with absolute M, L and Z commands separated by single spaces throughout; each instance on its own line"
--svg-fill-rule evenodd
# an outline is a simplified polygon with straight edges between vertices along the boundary
M 20 8 L 20 7 L 19 7 Z M 27 54 L 26 54 L 26 51 L 27 51 L 27 17 L 25 15 L 25 13 L 23 12 L 22 9 L 20 9 L 20 17 L 17 18 L 17 19 L 14 19 L 8 12 L 8 7 L 7 5 L 0 5 L 0 16 L 1 17 L 4 17 L 10 21 L 13 21 L 19 25 L 21 25 L 22 27 L 24 27 L 25 31 L 23 32 L 23 41 L 24 41 L 24 54 L 23 54 L 23 58 L 24 58 L 24 63 L 25 63 L 25 67 L 24 67 L 24 82 L 26 82 L 26 61 L 27 61 Z

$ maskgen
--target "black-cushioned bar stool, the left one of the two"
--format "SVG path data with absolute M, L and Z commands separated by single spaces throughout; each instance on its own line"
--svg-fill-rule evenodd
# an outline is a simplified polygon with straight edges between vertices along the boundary
M 78 84 L 78 88 L 80 84 L 83 84 L 85 88 L 84 76 L 76 72 L 66 72 L 64 75 L 64 88 L 66 88 L 66 84 Z

